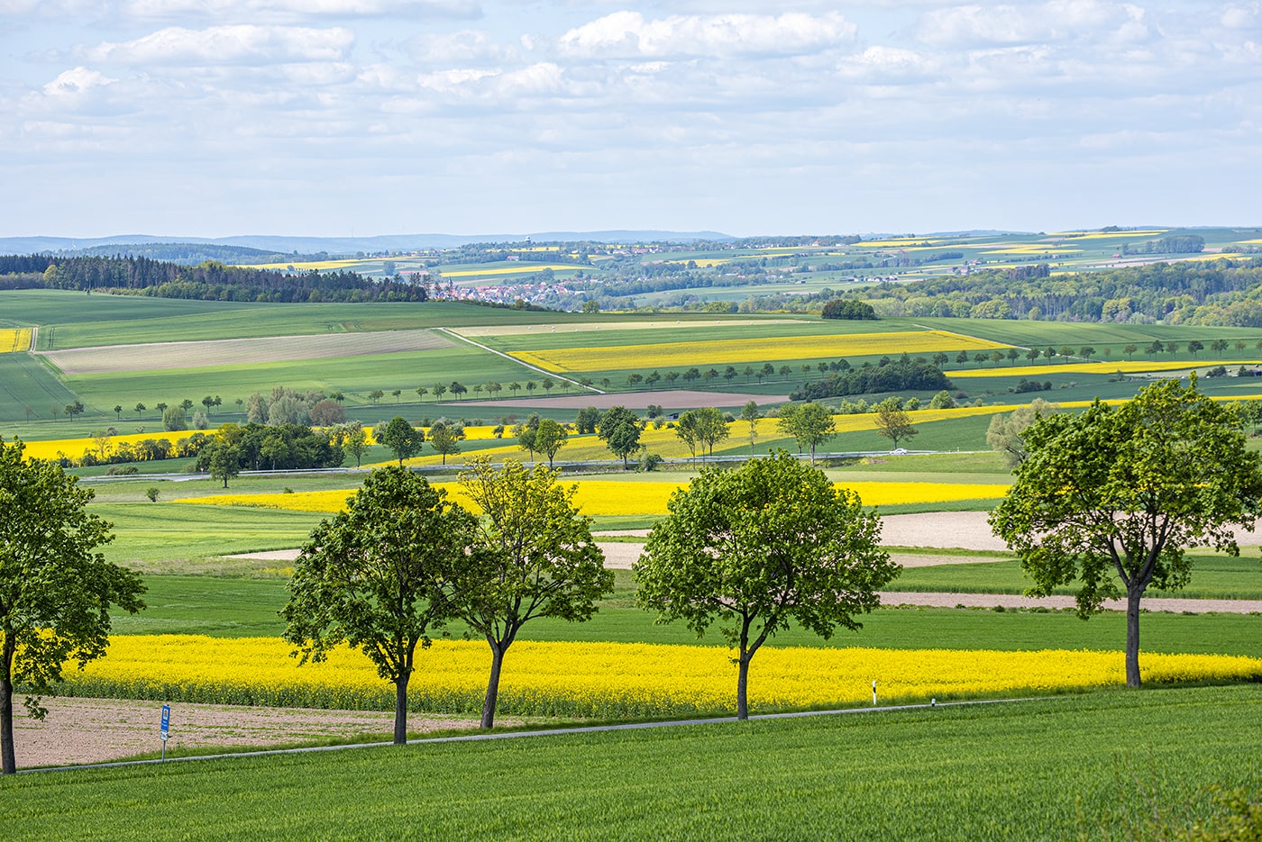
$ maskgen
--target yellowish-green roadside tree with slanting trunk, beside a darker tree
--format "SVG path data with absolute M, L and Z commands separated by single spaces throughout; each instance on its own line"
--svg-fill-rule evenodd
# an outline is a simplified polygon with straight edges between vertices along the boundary
M 613 572 L 592 539 L 592 519 L 574 507 L 577 487 L 557 473 L 520 463 L 491 466 L 473 459 L 461 474 L 480 509 L 475 551 L 457 560 L 445 580 L 451 610 L 491 647 L 482 727 L 495 725 L 504 655 L 528 621 L 551 616 L 591 619 L 596 601 L 613 590 Z

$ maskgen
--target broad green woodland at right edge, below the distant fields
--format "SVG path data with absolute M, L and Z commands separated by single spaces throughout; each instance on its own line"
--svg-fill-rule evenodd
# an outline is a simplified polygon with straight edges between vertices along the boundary
M 1262 260 L 1053 275 L 1045 265 L 882 284 L 846 294 L 880 316 L 1262 326 Z

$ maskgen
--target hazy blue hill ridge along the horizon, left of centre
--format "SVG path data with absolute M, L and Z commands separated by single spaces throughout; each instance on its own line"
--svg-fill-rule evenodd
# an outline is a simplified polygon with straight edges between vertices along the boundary
M 510 243 L 521 242 L 526 238 L 535 242 L 604 242 L 604 243 L 635 243 L 635 242 L 695 242 L 711 241 L 723 242 L 734 239 L 729 234 L 714 231 L 680 232 L 680 231 L 549 231 L 543 233 L 511 233 L 511 234 L 384 234 L 379 237 L 273 237 L 266 234 L 244 234 L 237 237 L 218 237 L 208 239 L 204 237 L 155 237 L 153 234 L 117 234 L 112 237 L 74 238 L 74 237 L 0 237 L 0 253 L 5 255 L 35 255 L 42 252 L 63 255 L 115 255 L 120 253 L 120 247 L 139 250 L 141 246 L 153 247 L 155 243 L 168 246 L 221 246 L 255 250 L 262 256 L 284 256 L 293 260 L 308 255 L 355 255 L 357 252 L 377 253 L 384 251 L 414 251 L 418 248 L 457 248 L 468 243 Z M 111 251 L 111 247 L 114 250 Z M 154 257 L 155 260 L 175 260 L 174 257 L 159 257 L 156 253 L 144 253 L 127 251 L 136 256 Z M 203 257 L 202 260 L 227 260 L 226 257 Z M 184 261 L 179 261 L 184 262 Z M 201 261 L 194 261 L 201 262 Z

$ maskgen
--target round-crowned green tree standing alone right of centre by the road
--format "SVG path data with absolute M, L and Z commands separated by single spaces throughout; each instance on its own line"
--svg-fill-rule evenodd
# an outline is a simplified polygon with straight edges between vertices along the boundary
M 632 566 L 636 599 L 700 637 L 718 621 L 737 650 L 736 712 L 747 718 L 750 660 L 795 623 L 828 639 L 900 567 L 880 547 L 881 521 L 857 494 L 784 450 L 737 470 L 704 468 L 671 494 Z

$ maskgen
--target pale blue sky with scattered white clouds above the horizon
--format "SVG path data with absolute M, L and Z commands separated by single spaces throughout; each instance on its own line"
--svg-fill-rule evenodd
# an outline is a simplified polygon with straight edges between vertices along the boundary
M 1262 3 L 0 0 L 0 237 L 1262 224 Z

